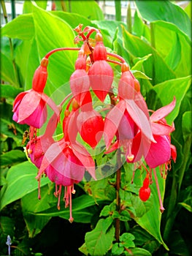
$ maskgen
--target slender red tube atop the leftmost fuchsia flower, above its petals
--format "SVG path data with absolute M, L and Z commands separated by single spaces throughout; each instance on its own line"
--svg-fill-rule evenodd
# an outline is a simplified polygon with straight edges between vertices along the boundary
M 40 66 L 34 72 L 34 78 L 32 81 L 32 88 L 34 91 L 43 92 L 47 82 L 47 65 L 48 59 L 43 58 Z

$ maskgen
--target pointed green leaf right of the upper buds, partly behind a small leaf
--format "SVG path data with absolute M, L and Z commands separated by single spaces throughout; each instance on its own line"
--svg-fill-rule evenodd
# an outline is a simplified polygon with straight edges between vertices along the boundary
M 143 63 L 143 67 L 145 74 L 153 79 L 153 84 L 175 78 L 174 72 L 166 65 L 157 50 L 139 37 L 128 33 L 126 29 L 123 29 L 123 46 L 132 59 L 138 57 L 142 58 L 152 54 L 152 56 Z

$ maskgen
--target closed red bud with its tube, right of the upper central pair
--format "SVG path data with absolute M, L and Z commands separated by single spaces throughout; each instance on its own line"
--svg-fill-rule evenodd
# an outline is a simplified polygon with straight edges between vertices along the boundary
M 100 33 L 96 34 L 96 47 L 93 50 L 93 59 L 95 62 L 88 71 L 91 87 L 101 102 L 104 102 L 112 86 L 113 72 L 112 67 L 107 63 L 107 51 Z

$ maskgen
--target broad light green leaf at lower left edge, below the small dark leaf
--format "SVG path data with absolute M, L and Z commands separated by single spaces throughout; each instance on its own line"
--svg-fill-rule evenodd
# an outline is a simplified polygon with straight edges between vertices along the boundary
M 36 176 L 37 167 L 28 161 L 12 166 L 7 173 L 7 187 L 1 192 L 1 208 L 37 189 Z M 48 178 L 42 178 L 41 185 L 49 182 Z

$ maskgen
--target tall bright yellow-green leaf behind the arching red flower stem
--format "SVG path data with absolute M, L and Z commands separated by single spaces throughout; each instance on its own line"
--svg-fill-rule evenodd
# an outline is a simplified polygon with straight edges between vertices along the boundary
M 34 7 L 33 14 L 39 59 L 42 59 L 46 53 L 55 48 L 76 47 L 74 45 L 74 31 L 64 20 L 41 10 L 39 7 Z M 58 52 L 50 57 L 45 93 L 51 95 L 58 87 L 69 81 L 70 75 L 74 72 L 76 58 L 77 53 L 72 50 Z M 64 97 L 68 93 L 69 84 L 66 84 L 63 95 L 60 92 L 60 94 L 56 94 L 56 97 Z

